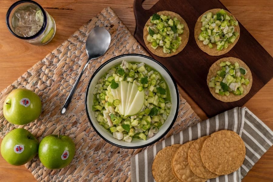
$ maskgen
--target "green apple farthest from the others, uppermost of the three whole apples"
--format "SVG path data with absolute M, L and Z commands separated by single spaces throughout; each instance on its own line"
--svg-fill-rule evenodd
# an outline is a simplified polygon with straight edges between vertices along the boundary
M 33 91 L 17 88 L 8 94 L 3 114 L 12 124 L 28 124 L 39 117 L 42 112 L 42 102 Z

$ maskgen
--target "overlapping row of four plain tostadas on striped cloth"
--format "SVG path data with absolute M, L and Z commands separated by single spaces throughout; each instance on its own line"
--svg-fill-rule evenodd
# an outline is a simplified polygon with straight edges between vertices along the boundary
M 152 173 L 157 182 L 205 182 L 238 170 L 245 153 L 244 141 L 238 134 L 221 130 L 163 148 L 153 161 Z

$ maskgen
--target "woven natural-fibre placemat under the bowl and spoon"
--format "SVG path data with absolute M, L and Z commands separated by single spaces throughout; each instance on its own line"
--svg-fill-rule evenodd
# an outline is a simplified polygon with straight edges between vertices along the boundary
M 111 34 L 111 44 L 105 55 L 88 65 L 66 114 L 60 110 L 80 70 L 87 61 L 85 51 L 86 35 L 95 26 L 105 27 Z M 105 8 L 89 22 L 79 28 L 68 40 L 36 63 L 13 84 L 0 94 L 0 136 L 3 138 L 14 128 L 24 127 L 38 139 L 49 134 L 68 135 L 76 144 L 76 154 L 71 164 L 60 170 L 45 168 L 38 156 L 25 167 L 38 181 L 131 181 L 130 158 L 146 149 L 123 149 L 101 139 L 93 130 L 86 117 L 84 96 L 93 72 L 105 61 L 126 53 L 148 55 L 128 28 L 120 21 L 111 8 Z M 19 126 L 5 120 L 3 102 L 15 88 L 34 91 L 42 100 L 42 114 L 35 122 Z M 177 121 L 164 137 L 196 124 L 199 117 L 181 98 Z M 161 139 L 160 141 L 162 141 Z

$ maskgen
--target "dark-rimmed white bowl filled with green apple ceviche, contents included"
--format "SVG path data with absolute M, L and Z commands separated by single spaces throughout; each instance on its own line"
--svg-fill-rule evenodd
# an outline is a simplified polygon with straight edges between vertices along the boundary
M 102 64 L 85 95 L 86 114 L 96 133 L 123 148 L 141 148 L 160 140 L 179 109 L 174 78 L 145 55 L 126 54 Z

